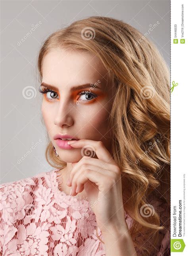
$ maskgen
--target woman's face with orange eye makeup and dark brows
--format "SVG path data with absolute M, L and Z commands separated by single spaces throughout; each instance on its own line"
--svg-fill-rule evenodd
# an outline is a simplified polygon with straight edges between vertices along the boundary
M 64 49 L 52 49 L 43 61 L 45 84 L 40 89 L 46 87 L 51 91 L 44 93 L 42 116 L 61 160 L 78 162 L 83 155 L 81 149 L 59 147 L 54 139 L 58 133 L 102 141 L 111 152 L 111 129 L 107 121 L 115 92 L 103 64 L 90 53 Z

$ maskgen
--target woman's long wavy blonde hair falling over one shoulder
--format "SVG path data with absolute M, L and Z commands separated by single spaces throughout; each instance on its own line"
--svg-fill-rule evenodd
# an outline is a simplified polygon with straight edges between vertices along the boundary
M 116 86 L 109 127 L 112 152 L 122 172 L 123 203 L 133 219 L 132 239 L 143 235 L 158 241 L 160 217 L 141 213 L 148 196 L 170 205 L 170 75 L 155 45 L 131 25 L 113 18 L 92 16 L 52 33 L 38 56 L 42 82 L 44 56 L 53 48 L 88 51 L 102 61 Z M 49 137 L 48 137 L 49 139 Z M 46 160 L 54 168 L 66 163 L 56 157 L 49 139 Z M 169 211 L 170 217 L 170 211 Z M 149 255 L 150 249 L 134 240 Z

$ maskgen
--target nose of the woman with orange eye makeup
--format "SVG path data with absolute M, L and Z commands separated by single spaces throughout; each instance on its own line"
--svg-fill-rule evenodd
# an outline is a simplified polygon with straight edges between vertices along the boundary
M 73 125 L 73 116 L 74 106 L 72 104 L 68 104 L 68 102 L 58 102 L 57 104 L 57 112 L 54 118 L 54 124 L 59 127 L 71 126 Z

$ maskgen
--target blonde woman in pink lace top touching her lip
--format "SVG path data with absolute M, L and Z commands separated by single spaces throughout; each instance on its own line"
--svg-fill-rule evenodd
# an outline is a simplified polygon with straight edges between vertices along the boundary
M 1 185 L 3 253 L 169 255 L 169 70 L 156 47 L 90 17 L 48 37 L 38 70 L 54 170 Z

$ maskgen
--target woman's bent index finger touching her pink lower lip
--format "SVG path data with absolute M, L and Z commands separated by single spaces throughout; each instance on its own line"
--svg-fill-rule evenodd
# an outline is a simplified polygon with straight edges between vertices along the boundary
M 102 141 L 92 141 L 87 139 L 81 139 L 79 141 L 76 141 L 73 144 L 70 144 L 71 147 L 74 148 L 86 148 L 88 147 L 88 150 L 91 147 L 91 151 L 94 151 L 98 157 L 98 159 L 103 160 L 104 162 L 107 162 L 109 164 L 114 164 L 114 159 L 112 158 L 110 152 L 106 149 Z M 94 150 L 92 150 L 92 148 Z

